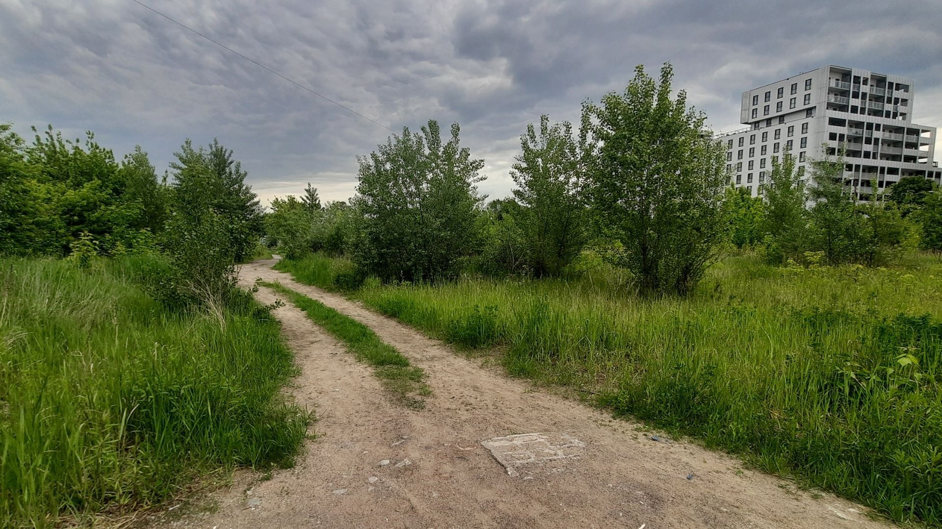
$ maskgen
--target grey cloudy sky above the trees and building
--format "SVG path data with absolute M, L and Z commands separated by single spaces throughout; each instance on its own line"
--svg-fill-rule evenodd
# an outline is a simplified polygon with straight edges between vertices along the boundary
M 942 127 L 938 0 L 141 1 L 397 131 L 458 121 L 493 198 L 528 122 L 577 120 L 637 64 L 674 63 L 717 131 L 742 90 L 828 63 L 915 78 L 914 120 Z M 4 121 L 140 144 L 161 173 L 185 137 L 219 137 L 266 200 L 307 182 L 346 200 L 389 134 L 133 0 L 0 0 Z

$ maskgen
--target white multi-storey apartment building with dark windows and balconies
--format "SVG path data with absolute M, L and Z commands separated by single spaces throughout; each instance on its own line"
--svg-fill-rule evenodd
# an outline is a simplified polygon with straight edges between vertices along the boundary
M 761 194 L 771 159 L 788 149 L 810 176 L 809 163 L 844 149 L 844 182 L 859 200 L 904 176 L 936 183 L 935 127 L 917 125 L 913 80 L 840 66 L 823 66 L 742 92 L 740 122 L 749 126 L 718 137 L 726 145 L 726 168 L 737 187 Z

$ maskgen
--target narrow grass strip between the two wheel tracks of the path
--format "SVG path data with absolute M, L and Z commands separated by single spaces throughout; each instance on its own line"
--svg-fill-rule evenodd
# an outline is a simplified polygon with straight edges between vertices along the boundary
M 429 386 L 425 384 L 425 372 L 421 367 L 411 365 L 409 359 L 402 356 L 396 347 L 383 342 L 372 329 L 281 283 L 260 284 L 287 297 L 317 325 L 343 341 L 357 360 L 373 366 L 373 373 L 387 391 L 396 395 L 398 402 L 414 409 L 425 407 L 422 397 L 430 394 Z

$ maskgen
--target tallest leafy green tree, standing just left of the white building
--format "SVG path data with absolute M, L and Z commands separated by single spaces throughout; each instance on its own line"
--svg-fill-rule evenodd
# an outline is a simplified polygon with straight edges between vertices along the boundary
M 643 294 L 690 293 L 723 233 L 725 152 L 706 115 L 687 106 L 687 93 L 672 99 L 673 78 L 670 64 L 659 81 L 639 66 L 624 93 L 583 106 L 592 205 L 617 242 L 608 257 Z

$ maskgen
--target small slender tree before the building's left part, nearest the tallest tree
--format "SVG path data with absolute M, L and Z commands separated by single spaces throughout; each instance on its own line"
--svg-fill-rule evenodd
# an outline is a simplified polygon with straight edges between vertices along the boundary
M 795 156 L 788 149 L 781 161 L 772 156 L 763 198 L 766 259 L 771 264 L 782 264 L 788 258 L 801 259 L 807 242 L 804 168 L 796 168 Z

